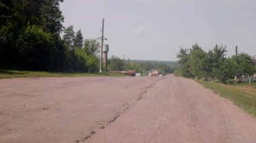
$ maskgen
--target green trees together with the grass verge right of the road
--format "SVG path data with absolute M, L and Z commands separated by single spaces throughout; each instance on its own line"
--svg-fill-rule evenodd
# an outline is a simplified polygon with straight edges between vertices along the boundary
M 180 48 L 177 54 L 180 66 L 174 75 L 196 79 L 205 88 L 256 116 L 256 83 L 239 81 L 256 73 L 253 57 L 247 53 L 226 57 L 226 52 L 226 46 L 218 45 L 208 52 L 197 44 L 189 49 Z

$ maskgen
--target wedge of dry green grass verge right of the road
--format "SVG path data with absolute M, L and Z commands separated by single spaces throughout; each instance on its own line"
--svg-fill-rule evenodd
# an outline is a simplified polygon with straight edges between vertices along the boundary
M 235 84 L 235 85 L 223 85 L 220 83 L 214 83 L 212 81 L 200 81 L 203 87 L 211 89 L 220 96 L 225 97 L 232 101 L 238 107 L 241 107 L 247 113 L 256 117 L 256 83 L 249 84 Z

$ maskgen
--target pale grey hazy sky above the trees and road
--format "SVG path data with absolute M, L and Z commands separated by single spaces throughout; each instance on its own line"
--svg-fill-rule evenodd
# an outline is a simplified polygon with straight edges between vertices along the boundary
M 120 58 L 177 60 L 179 47 L 196 42 L 256 55 L 255 0 L 65 0 L 61 11 L 84 38 L 99 38 L 104 18 L 108 55 Z

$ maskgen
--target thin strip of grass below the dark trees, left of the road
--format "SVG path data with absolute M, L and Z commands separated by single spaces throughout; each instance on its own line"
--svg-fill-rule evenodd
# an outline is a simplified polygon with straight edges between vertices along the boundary
M 26 70 L 0 70 L 0 79 L 18 77 L 125 77 L 119 73 L 59 73 Z

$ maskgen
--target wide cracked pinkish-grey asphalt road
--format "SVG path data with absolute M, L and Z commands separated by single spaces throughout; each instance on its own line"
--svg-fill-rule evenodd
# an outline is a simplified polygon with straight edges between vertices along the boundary
M 173 75 L 0 80 L 0 142 L 255 141 L 255 117 Z

